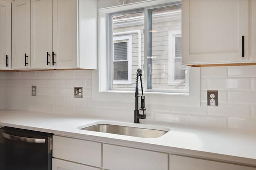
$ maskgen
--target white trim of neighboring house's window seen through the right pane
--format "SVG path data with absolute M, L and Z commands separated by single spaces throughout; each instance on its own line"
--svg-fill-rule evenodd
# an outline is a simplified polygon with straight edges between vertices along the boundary
M 176 31 L 169 31 L 168 32 L 168 65 L 169 65 L 169 75 L 168 75 L 168 84 L 169 85 L 178 85 L 182 83 L 184 80 L 175 80 L 175 73 L 172 71 L 171 68 L 175 67 L 175 38 L 176 37 L 182 37 L 181 30 Z M 187 69 L 185 72 L 185 82 L 186 86 L 188 86 L 188 73 L 189 70 Z

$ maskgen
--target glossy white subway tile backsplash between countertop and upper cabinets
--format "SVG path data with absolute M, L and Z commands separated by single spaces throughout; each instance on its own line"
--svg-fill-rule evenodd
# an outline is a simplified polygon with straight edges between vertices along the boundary
M 6 107 L 132 122 L 134 95 L 122 95 L 130 102 L 94 100 L 92 90 L 98 87 L 92 82 L 98 77 L 92 72 L 97 75 L 91 70 L 7 72 Z M 201 107 L 146 102 L 147 119 L 142 122 L 255 130 L 256 66 L 202 67 L 201 74 Z M 36 97 L 31 96 L 32 85 L 37 86 Z M 84 98 L 74 98 L 74 86 L 84 87 Z M 207 90 L 219 90 L 218 107 L 206 106 Z

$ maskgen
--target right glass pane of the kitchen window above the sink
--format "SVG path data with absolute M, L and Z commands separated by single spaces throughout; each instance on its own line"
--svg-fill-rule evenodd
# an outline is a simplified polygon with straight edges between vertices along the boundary
M 149 10 L 148 89 L 186 90 L 181 65 L 181 6 Z

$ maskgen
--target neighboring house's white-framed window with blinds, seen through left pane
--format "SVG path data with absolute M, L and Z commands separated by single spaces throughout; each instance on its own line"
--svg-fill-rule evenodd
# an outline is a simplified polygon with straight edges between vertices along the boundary
M 132 36 L 113 38 L 113 84 L 132 84 Z

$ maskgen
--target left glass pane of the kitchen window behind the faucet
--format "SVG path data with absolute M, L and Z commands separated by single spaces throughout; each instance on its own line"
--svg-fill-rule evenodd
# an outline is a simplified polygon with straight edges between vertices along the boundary
M 118 90 L 125 88 L 134 90 L 136 71 L 144 65 L 143 30 L 144 12 L 130 12 L 112 16 L 114 51 L 112 52 L 113 61 L 111 62 L 113 63 L 113 80 L 110 80 L 113 86 L 110 89 Z M 124 60 L 127 61 L 124 62 Z M 144 79 L 144 70 L 142 72 Z

